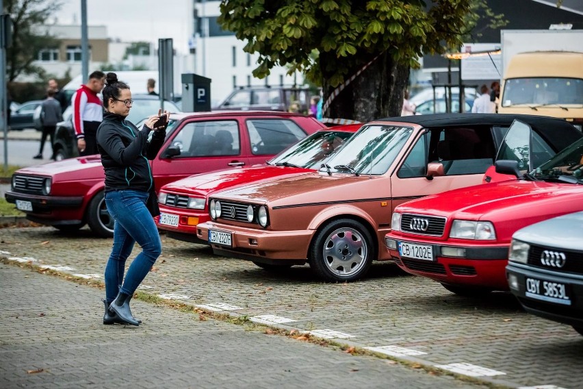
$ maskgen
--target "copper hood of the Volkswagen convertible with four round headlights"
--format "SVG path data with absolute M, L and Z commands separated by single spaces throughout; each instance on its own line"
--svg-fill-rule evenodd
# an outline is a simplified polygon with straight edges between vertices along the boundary
M 384 176 L 326 175 L 313 172 L 224 190 L 217 197 L 244 203 L 270 203 L 273 207 L 386 198 L 389 196 L 389 184 L 384 195 L 378 190 L 378 179 L 383 178 L 386 179 Z

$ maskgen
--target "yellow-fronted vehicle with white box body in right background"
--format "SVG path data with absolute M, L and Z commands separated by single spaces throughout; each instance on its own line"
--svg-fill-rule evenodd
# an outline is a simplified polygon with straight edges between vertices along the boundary
M 499 113 L 583 125 L 583 29 L 502 30 Z

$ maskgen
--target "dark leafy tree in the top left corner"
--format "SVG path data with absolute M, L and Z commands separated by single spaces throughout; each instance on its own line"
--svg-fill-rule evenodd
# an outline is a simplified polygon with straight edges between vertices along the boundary
M 61 3 L 57 0 L 4 0 L 3 3 L 4 11 L 14 23 L 12 47 L 6 51 L 8 81 L 30 74 L 44 78 L 44 70 L 33 62 L 40 50 L 59 47 L 59 41 L 42 34 L 40 27 L 60 9 Z

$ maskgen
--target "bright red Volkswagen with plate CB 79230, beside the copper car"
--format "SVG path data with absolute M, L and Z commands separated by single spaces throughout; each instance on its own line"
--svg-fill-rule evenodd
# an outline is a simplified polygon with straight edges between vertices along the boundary
M 197 174 L 166 184 L 158 193 L 161 214 L 156 218 L 156 224 L 159 229 L 166 230 L 170 238 L 207 244 L 206 240 L 196 237 L 196 225 L 209 221 L 209 194 L 250 181 L 314 171 L 361 126 L 341 125 L 320 129 L 265 164 Z

